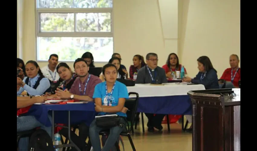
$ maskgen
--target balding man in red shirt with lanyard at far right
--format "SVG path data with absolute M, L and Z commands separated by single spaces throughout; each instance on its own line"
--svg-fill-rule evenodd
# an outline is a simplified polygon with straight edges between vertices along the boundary
M 229 56 L 230 68 L 227 68 L 220 79 L 232 82 L 236 88 L 239 88 L 238 81 L 241 79 L 241 69 L 239 68 L 239 57 L 236 54 Z

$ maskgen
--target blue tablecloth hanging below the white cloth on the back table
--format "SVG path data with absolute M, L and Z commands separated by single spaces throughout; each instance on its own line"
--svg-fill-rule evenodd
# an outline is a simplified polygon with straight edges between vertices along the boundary
M 137 111 L 154 114 L 192 115 L 192 103 L 188 95 L 144 97 L 139 98 Z

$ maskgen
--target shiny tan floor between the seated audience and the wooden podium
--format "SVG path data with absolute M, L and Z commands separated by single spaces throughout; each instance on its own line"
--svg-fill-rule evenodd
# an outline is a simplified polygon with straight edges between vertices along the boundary
M 162 124 L 163 132 L 147 132 L 147 117 L 145 121 L 145 134 L 142 133 L 142 123 L 137 126 L 137 130 L 132 134 L 132 140 L 137 151 L 191 151 L 192 134 L 181 130 L 181 124 L 171 124 L 171 132 L 168 132 L 167 124 Z M 190 125 L 189 125 L 190 126 Z M 132 151 L 127 137 L 122 137 L 125 151 Z M 120 143 L 121 145 L 121 143 Z M 121 151 L 123 149 L 121 148 Z

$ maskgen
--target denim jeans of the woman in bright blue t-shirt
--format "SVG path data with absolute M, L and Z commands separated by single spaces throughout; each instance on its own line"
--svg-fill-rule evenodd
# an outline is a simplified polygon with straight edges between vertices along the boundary
M 123 118 L 120 120 L 121 123 L 126 123 Z M 89 137 L 90 137 L 90 142 L 92 144 L 93 150 L 94 151 L 109 151 L 112 146 L 114 146 L 115 142 L 118 140 L 120 133 L 123 130 L 126 130 L 126 127 L 119 127 L 115 126 L 110 129 L 110 134 L 106 140 L 105 145 L 102 147 L 101 150 L 101 142 L 100 142 L 100 137 L 99 137 L 99 132 L 101 130 L 105 130 L 105 128 L 97 127 L 96 126 L 96 119 L 93 120 L 93 122 L 90 124 L 89 127 Z

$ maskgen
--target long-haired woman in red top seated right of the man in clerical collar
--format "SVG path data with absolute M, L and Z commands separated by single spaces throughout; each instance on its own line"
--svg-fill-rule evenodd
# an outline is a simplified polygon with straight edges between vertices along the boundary
M 166 72 L 167 79 L 172 79 L 171 72 L 181 71 L 181 67 L 182 65 L 179 64 L 178 56 L 176 53 L 169 54 L 166 64 L 162 66 L 162 68 Z M 185 74 L 187 74 L 187 70 L 185 67 L 184 67 L 184 70 L 185 70 Z

